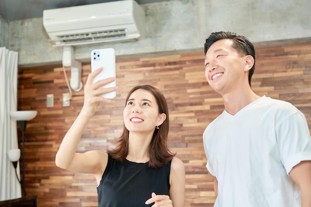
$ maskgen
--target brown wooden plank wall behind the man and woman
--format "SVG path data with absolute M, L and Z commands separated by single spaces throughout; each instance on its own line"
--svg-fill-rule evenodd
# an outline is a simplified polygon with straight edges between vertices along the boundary
M 293 103 L 306 115 L 311 127 L 311 43 L 260 47 L 256 51 L 253 90 L 259 95 Z M 203 61 L 203 52 L 117 60 L 116 103 L 99 105 L 83 133 L 78 151 L 104 151 L 111 147 L 122 131 L 127 92 L 138 84 L 152 84 L 167 99 L 168 143 L 185 164 L 185 206 L 212 207 L 215 196 L 212 179 L 205 168 L 202 133 L 224 107 L 221 97 L 206 82 Z M 83 64 L 82 68 L 84 84 L 90 64 Z M 70 77 L 68 69 L 66 73 Z M 83 90 L 73 91 L 70 107 L 62 107 L 63 93 L 68 93 L 68 87 L 61 66 L 18 72 L 18 110 L 38 111 L 37 117 L 28 121 L 25 131 L 27 195 L 38 195 L 38 207 L 96 207 L 94 177 L 55 166 L 61 140 L 83 104 Z M 54 94 L 52 108 L 46 107 L 47 94 Z M 19 130 L 18 133 L 20 141 Z

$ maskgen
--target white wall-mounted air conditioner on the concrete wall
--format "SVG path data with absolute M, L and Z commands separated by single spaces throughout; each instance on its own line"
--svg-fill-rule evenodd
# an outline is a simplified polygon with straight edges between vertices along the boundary
M 144 36 L 145 11 L 135 0 L 47 9 L 43 26 L 54 46 L 138 39 Z

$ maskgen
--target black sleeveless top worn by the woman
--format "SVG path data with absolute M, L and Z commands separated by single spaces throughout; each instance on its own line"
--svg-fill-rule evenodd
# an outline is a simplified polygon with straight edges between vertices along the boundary
M 147 163 L 125 159 L 118 162 L 108 154 L 107 167 L 97 187 L 98 207 L 151 207 L 145 202 L 156 195 L 169 196 L 169 161 L 151 169 Z

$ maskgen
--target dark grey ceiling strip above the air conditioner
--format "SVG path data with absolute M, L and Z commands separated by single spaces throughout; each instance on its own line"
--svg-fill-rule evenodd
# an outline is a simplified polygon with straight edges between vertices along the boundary
M 0 0 L 0 15 L 8 21 L 42 17 L 43 10 L 116 0 Z M 136 0 L 139 4 L 165 0 Z

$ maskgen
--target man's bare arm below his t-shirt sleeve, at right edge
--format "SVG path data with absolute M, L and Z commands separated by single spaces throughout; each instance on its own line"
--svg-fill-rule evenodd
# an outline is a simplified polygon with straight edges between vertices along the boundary
M 301 191 L 301 207 L 311 207 L 311 161 L 302 161 L 289 173 Z

